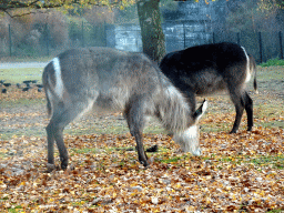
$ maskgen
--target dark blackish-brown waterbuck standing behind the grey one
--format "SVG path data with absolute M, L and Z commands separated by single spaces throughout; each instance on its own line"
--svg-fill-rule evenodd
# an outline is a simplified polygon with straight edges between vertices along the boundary
M 247 114 L 247 131 L 252 130 L 253 101 L 245 84 L 254 74 L 256 91 L 256 64 L 243 47 L 223 42 L 187 48 L 166 54 L 160 68 L 185 93 L 192 110 L 195 109 L 195 95 L 229 91 L 236 111 L 231 133 L 237 131 L 244 109 Z

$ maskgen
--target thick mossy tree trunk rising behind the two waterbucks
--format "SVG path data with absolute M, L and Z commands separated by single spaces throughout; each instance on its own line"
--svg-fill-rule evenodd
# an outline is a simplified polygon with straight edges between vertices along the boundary
M 165 55 L 159 2 L 160 0 L 138 0 L 143 52 L 158 63 Z

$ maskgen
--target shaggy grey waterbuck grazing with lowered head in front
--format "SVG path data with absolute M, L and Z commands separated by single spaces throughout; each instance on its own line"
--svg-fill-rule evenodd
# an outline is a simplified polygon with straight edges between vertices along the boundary
M 48 168 L 54 168 L 57 142 L 61 168 L 68 166 L 63 129 L 89 110 L 122 111 L 135 138 L 139 161 L 148 166 L 142 131 L 146 116 L 158 116 L 182 151 L 200 155 L 197 121 L 207 102 L 192 113 L 182 93 L 142 53 L 110 48 L 68 50 L 43 71 L 42 82 L 51 116 L 47 126 Z

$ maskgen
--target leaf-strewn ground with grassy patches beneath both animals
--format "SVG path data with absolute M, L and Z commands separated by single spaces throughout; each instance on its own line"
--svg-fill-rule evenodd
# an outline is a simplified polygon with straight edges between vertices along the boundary
M 244 116 L 241 131 L 229 134 L 231 101 L 209 98 L 202 156 L 180 153 L 153 121 L 144 145 L 159 151 L 148 153 L 146 170 L 125 122 L 113 114 L 71 123 L 69 169 L 45 173 L 43 93 L 13 88 L 0 94 L 0 212 L 284 212 L 283 80 L 268 80 L 266 71 L 260 94 L 252 94 L 252 132 Z

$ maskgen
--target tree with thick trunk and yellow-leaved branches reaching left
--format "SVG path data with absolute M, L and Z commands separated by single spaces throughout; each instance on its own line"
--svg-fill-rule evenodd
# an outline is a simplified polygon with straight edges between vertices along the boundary
M 123 9 L 133 4 L 134 0 L 2 0 L 0 11 L 8 13 L 10 17 L 18 17 L 34 12 L 34 9 L 64 8 L 72 9 L 78 7 L 119 7 Z M 138 13 L 141 26 L 143 52 L 151 59 L 160 61 L 165 54 L 164 33 L 161 26 L 160 0 L 138 0 Z M 29 9 L 22 14 L 14 14 L 16 9 Z

